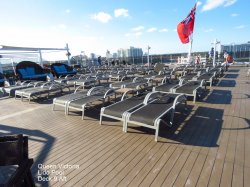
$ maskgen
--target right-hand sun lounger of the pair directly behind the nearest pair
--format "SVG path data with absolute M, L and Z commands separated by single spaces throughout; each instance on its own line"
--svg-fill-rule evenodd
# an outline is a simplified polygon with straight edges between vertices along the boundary
M 197 96 L 201 95 L 203 86 L 206 89 L 206 82 L 204 80 L 201 81 L 188 81 L 185 84 L 173 88 L 173 93 L 185 94 L 186 96 L 192 96 L 193 102 L 195 103 Z

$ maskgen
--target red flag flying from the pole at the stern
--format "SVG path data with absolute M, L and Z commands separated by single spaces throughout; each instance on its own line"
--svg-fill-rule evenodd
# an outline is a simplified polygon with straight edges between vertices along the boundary
M 194 30 L 194 20 L 195 20 L 195 11 L 196 11 L 196 3 L 188 16 L 178 24 L 177 32 L 179 38 L 183 44 L 189 42 L 189 36 L 193 33 Z

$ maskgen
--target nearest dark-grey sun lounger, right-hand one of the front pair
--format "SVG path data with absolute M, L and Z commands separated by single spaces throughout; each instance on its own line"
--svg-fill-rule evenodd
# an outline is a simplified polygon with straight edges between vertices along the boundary
M 162 93 L 158 98 L 152 102 L 146 102 L 146 105 L 135 111 L 126 112 L 124 131 L 127 132 L 128 124 L 155 129 L 155 141 L 157 141 L 160 124 L 173 125 L 175 107 L 180 103 L 186 104 L 184 95 Z M 167 113 L 171 113 L 169 122 L 164 118 Z

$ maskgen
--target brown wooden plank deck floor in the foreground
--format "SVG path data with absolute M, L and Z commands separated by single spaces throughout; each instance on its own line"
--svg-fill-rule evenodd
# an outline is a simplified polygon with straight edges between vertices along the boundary
M 158 143 L 145 128 L 130 126 L 123 133 L 121 122 L 106 118 L 99 125 L 97 109 L 81 120 L 79 112 L 52 111 L 50 100 L 28 104 L 13 98 L 0 98 L 0 135 L 29 136 L 38 186 L 249 186 L 246 70 L 231 68 L 201 102 L 179 108 L 175 125 L 161 127 Z

